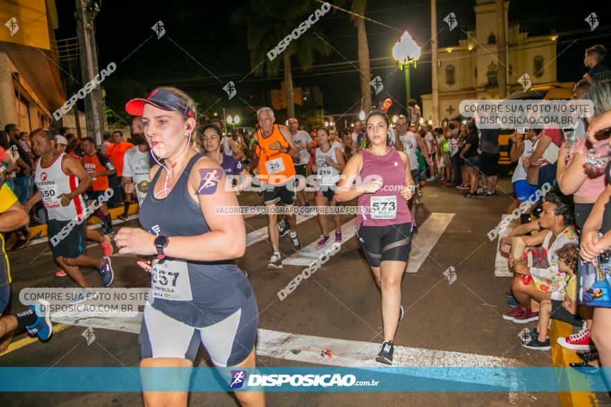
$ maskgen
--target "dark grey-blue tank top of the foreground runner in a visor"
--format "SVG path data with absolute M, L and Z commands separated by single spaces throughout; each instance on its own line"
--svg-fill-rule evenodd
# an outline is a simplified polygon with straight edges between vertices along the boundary
M 165 170 L 151 180 L 149 193 L 140 208 L 140 225 L 151 234 L 196 236 L 210 232 L 199 205 L 189 196 L 187 182 L 191 168 L 203 157 L 189 160 L 176 185 L 163 199 L 154 196 L 155 185 Z M 153 308 L 191 327 L 208 327 L 235 313 L 253 295 L 250 282 L 233 259 L 192 261 L 166 258 L 153 261 L 151 270 Z

